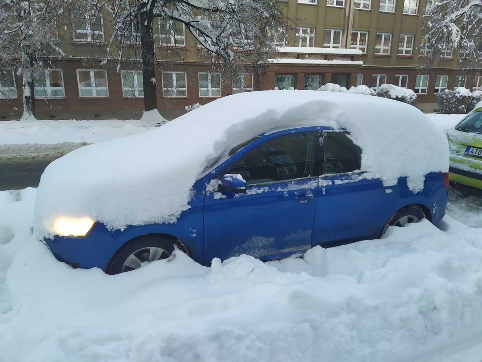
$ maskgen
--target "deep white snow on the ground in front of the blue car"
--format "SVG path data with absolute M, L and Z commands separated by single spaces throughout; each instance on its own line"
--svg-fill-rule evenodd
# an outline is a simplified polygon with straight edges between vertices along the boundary
M 32 238 L 35 193 L 0 192 L 1 362 L 482 358 L 479 199 L 451 191 L 439 228 L 390 228 L 303 259 L 203 267 L 177 253 L 108 276 Z

